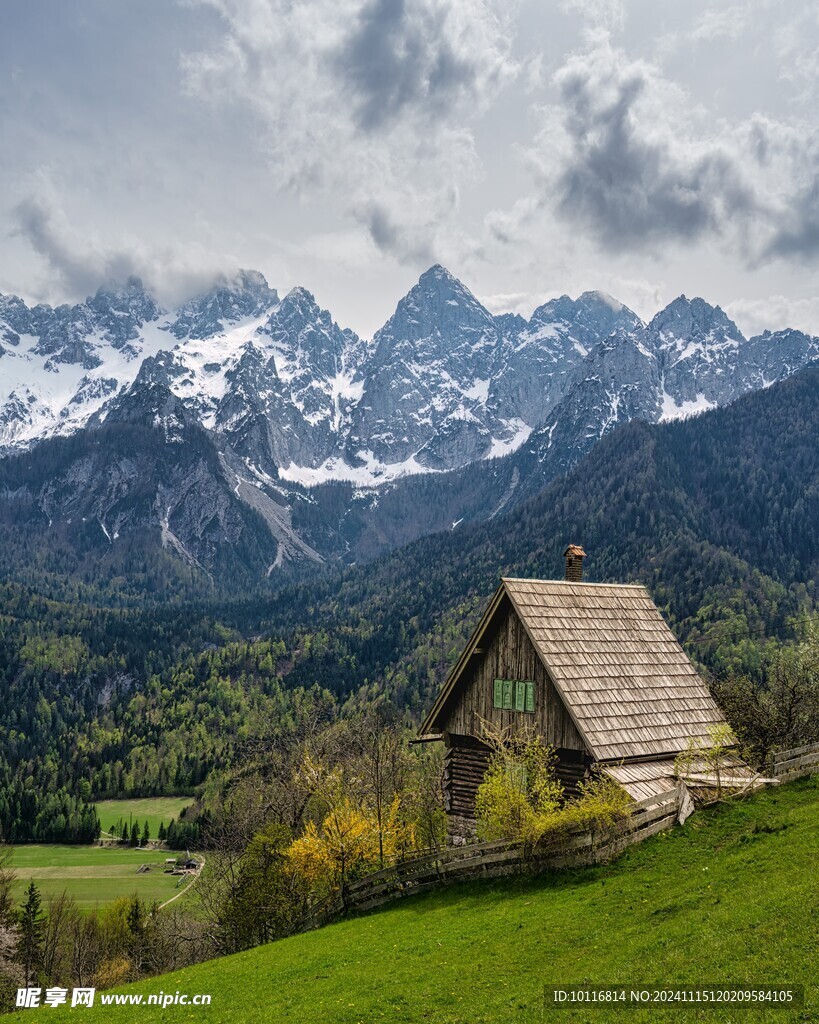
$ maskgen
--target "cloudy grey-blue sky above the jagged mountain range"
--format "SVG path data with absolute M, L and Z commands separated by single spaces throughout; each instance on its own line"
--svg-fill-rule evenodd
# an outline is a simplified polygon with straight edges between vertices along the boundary
M 819 333 L 818 94 L 796 0 L 7 2 L 0 291 L 245 266 L 370 335 L 441 262 Z

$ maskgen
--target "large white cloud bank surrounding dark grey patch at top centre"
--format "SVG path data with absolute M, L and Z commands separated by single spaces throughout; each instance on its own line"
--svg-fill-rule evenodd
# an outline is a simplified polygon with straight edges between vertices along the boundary
M 275 190 L 345 212 L 398 260 L 436 249 L 479 174 L 470 125 L 518 72 L 500 0 L 188 0 L 224 35 L 182 58 L 191 96 L 250 108 Z

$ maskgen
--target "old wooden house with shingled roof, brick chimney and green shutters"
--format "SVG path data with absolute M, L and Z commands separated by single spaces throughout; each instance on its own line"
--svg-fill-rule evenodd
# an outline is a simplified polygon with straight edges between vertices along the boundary
M 449 673 L 419 738 L 446 746 L 450 840 L 474 835 L 475 796 L 495 731 L 536 732 L 570 795 L 593 765 L 635 800 L 677 784 L 675 759 L 724 722 L 645 587 L 583 582 L 583 548 L 564 580 L 504 579 Z M 738 759 L 727 759 L 747 781 Z

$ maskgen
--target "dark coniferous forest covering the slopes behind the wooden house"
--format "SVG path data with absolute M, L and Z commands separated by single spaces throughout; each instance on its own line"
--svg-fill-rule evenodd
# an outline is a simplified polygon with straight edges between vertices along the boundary
M 569 541 L 589 579 L 645 583 L 715 686 L 764 689 L 815 611 L 817 399 L 809 369 L 705 416 L 633 422 L 506 517 L 278 591 L 169 575 L 161 599 L 117 606 L 110 577 L 8 571 L 3 838 L 87 841 L 91 801 L 192 793 L 305 718 L 386 700 L 418 721 L 499 578 L 560 577 Z

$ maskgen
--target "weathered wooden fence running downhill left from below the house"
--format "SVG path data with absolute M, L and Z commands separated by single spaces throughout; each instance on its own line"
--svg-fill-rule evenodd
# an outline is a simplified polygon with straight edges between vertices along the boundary
M 448 882 L 602 863 L 627 847 L 671 828 L 684 800 L 683 786 L 641 800 L 624 821 L 602 833 L 575 829 L 533 847 L 509 840 L 472 843 L 401 861 L 348 883 L 343 892 L 311 908 L 294 931 L 319 928 L 345 913 L 372 910 Z

